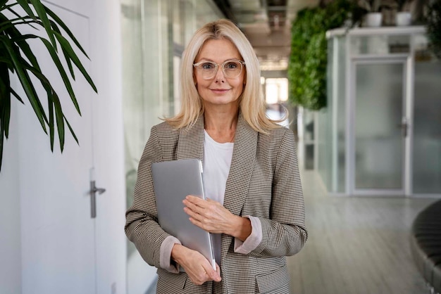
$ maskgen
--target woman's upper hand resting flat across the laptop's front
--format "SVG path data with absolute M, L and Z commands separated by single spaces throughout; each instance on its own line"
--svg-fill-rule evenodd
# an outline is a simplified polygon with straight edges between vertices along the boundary
M 245 217 L 233 215 L 221 203 L 211 199 L 187 196 L 182 201 L 190 222 L 214 234 L 228 234 L 245 241 L 251 234 L 251 222 Z

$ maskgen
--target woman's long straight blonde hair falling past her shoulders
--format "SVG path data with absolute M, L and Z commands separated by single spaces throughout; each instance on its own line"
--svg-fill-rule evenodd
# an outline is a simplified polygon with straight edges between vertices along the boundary
M 201 27 L 190 40 L 182 54 L 180 68 L 180 97 L 181 110 L 178 115 L 165 120 L 175 128 L 187 127 L 194 124 L 197 117 L 204 113 L 204 103 L 197 92 L 193 79 L 193 63 L 197 55 L 209 39 L 228 39 L 234 44 L 244 59 L 246 83 L 240 96 L 240 110 L 244 120 L 257 132 L 267 133 L 268 129 L 280 127 L 276 122 L 266 117 L 266 105 L 261 93 L 259 60 L 247 37 L 230 20 L 221 19 L 207 23 Z

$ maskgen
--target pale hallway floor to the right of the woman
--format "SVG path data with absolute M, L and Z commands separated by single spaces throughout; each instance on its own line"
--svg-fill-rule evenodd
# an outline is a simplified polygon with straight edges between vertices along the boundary
M 311 171 L 302 183 L 309 238 L 288 257 L 292 293 L 430 293 L 414 265 L 409 230 L 437 199 L 331 197 Z

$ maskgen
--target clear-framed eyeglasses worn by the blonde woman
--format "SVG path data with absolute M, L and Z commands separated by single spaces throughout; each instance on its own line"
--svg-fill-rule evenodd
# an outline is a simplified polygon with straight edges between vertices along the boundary
M 237 59 L 225 60 L 222 64 L 211 61 L 201 61 L 194 63 L 194 68 L 201 74 L 202 79 L 213 79 L 218 73 L 218 65 L 221 65 L 223 75 L 228 79 L 239 77 L 245 62 Z

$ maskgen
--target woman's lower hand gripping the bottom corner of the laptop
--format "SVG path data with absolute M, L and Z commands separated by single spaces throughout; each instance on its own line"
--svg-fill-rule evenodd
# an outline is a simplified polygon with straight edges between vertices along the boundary
M 221 269 L 216 264 L 216 271 L 201 253 L 180 244 L 175 244 L 171 250 L 171 258 L 185 269 L 190 280 L 196 285 L 206 281 L 221 281 Z

